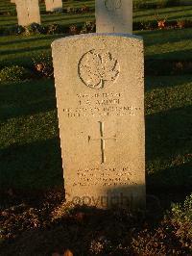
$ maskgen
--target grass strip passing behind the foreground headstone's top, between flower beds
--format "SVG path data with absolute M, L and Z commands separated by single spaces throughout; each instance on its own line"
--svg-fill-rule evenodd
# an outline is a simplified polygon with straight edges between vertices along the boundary
M 147 59 L 192 60 L 192 29 L 137 32 L 145 42 Z M 51 54 L 51 42 L 64 35 L 0 37 L 0 66 L 31 66 L 41 53 Z

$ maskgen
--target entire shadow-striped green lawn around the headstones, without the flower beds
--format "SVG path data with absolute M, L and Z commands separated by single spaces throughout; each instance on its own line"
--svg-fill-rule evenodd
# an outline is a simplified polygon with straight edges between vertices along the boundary
M 64 6 L 94 1 L 65 2 Z M 9 1 L 0 11 L 13 8 Z M 11 10 L 10 9 L 10 10 Z M 44 6 L 41 6 L 44 12 Z M 188 6 L 159 9 L 169 19 L 188 17 Z M 150 20 L 154 10 L 134 12 L 134 20 Z M 1 16 L 1 25 L 16 22 Z M 94 18 L 92 13 L 42 14 L 43 23 L 73 24 Z M 192 60 L 192 29 L 137 31 L 144 38 L 146 60 Z M 64 35 L 0 37 L 0 67 L 32 66 L 32 59 L 51 54 L 51 42 Z M 191 155 L 192 76 L 146 78 L 147 182 L 152 188 L 184 188 L 192 185 Z M 54 82 L 35 80 L 0 85 L 0 170 L 4 188 L 43 189 L 62 186 L 60 141 Z

